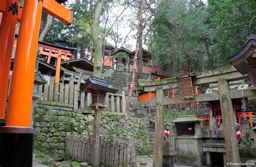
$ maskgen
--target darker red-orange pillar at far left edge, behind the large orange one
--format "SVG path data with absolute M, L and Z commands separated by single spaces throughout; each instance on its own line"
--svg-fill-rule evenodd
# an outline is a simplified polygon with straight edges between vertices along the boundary
M 10 0 L 6 2 L 6 5 L 4 6 L 6 11 L 2 14 L 2 26 L 0 27 L 0 119 L 3 120 L 5 116 L 12 48 L 14 47 L 15 27 L 18 19 L 18 12 L 16 14 L 12 11 L 8 11 L 13 4 L 19 6 L 19 0 Z

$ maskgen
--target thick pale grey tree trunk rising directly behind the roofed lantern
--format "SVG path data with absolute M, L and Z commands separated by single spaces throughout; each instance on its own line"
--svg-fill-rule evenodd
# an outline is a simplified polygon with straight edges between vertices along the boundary
M 91 32 L 94 48 L 93 76 L 102 77 L 102 42 L 99 37 L 99 19 L 103 9 L 103 0 L 97 1 Z

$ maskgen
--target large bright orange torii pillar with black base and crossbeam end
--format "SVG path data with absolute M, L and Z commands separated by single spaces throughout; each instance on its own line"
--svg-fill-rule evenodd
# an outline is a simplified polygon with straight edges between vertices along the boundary
M 36 64 L 35 55 L 37 53 L 43 5 L 47 13 L 57 16 L 57 18 L 61 18 L 61 13 L 65 12 L 59 9 L 59 6 L 55 6 L 54 3 L 56 4 L 57 2 L 54 0 L 26 0 L 24 3 L 12 75 L 6 126 L 2 127 L 0 133 L 2 136 L 0 148 L 2 154 L 1 166 L 32 166 L 32 92 Z M 68 16 L 69 13 L 64 13 L 63 15 Z M 64 19 L 64 23 L 70 24 L 72 20 L 71 12 L 70 17 L 66 18 L 69 18 L 70 22 L 65 22 Z M 5 22 L 3 19 L 1 27 L 3 27 Z M 13 45 L 10 48 L 12 47 Z M 6 49 L 8 50 L 8 47 Z

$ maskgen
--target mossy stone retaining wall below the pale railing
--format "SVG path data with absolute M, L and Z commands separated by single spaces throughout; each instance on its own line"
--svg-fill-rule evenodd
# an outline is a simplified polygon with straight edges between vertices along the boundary
M 93 131 L 93 114 L 73 112 L 69 107 L 37 105 L 33 109 L 35 147 L 64 154 L 68 132 L 90 135 Z M 123 115 L 102 114 L 100 135 L 104 139 L 125 141 L 131 136 L 138 154 L 150 153 L 148 120 Z

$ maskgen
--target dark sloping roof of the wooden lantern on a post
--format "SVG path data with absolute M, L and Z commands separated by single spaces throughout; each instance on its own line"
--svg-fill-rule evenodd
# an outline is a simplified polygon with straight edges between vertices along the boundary
M 113 88 L 109 81 L 95 76 L 90 76 L 90 78 L 86 80 L 84 86 L 81 88 L 81 91 L 90 92 L 91 86 L 98 89 L 98 91 L 110 93 L 116 93 L 118 91 L 118 89 Z

